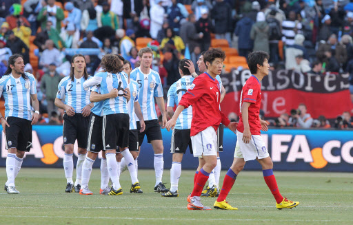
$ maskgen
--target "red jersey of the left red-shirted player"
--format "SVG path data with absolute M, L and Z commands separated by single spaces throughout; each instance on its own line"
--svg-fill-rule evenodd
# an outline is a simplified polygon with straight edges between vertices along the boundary
M 188 108 L 192 105 L 190 136 L 212 126 L 215 131 L 219 123 L 228 126 L 230 120 L 219 110 L 221 98 L 219 82 L 207 73 L 194 79 L 190 89 L 181 98 L 179 105 Z

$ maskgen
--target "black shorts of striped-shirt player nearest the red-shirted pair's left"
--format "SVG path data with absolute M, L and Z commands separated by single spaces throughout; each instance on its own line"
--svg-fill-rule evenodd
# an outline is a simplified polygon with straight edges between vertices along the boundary
M 190 129 L 173 129 L 172 140 L 170 144 L 170 153 L 184 153 L 186 149 L 192 153 L 192 144 L 190 138 Z

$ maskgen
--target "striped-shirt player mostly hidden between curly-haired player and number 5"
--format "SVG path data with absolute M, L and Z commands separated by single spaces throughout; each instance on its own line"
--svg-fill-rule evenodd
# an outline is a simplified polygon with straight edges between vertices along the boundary
M 139 84 L 136 81 L 130 79 L 130 73 L 132 71 L 131 63 L 127 60 L 123 62 L 123 72 L 128 75 L 130 95 L 132 100 L 128 103 L 128 111 L 130 116 L 130 133 L 129 133 L 129 148 L 125 149 L 122 154 L 117 154 L 118 171 L 121 168 L 126 167 L 129 169 L 131 176 L 131 189 L 130 193 L 143 193 L 141 188 L 137 188 L 137 157 L 139 156 L 139 131 L 137 130 L 136 118 L 139 118 L 141 129 L 140 132 L 145 130 L 145 122 L 141 112 L 139 104 Z M 130 153 L 128 153 L 130 151 Z

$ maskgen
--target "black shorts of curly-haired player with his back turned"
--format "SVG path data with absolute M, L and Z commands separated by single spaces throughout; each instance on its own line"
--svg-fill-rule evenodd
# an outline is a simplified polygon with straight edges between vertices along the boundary
M 117 146 L 129 147 L 129 114 L 110 114 L 103 116 L 103 149 L 113 150 Z

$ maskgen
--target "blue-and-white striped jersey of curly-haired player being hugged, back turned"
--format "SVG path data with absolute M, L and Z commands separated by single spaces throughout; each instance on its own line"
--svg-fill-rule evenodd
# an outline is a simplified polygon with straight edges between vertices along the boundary
M 101 78 L 101 94 L 108 94 L 114 88 L 119 90 L 117 98 L 103 100 L 103 115 L 128 114 L 128 101 L 123 97 L 123 89 L 129 87 L 128 77 L 125 73 L 110 74 L 101 72 L 94 75 L 94 77 Z

